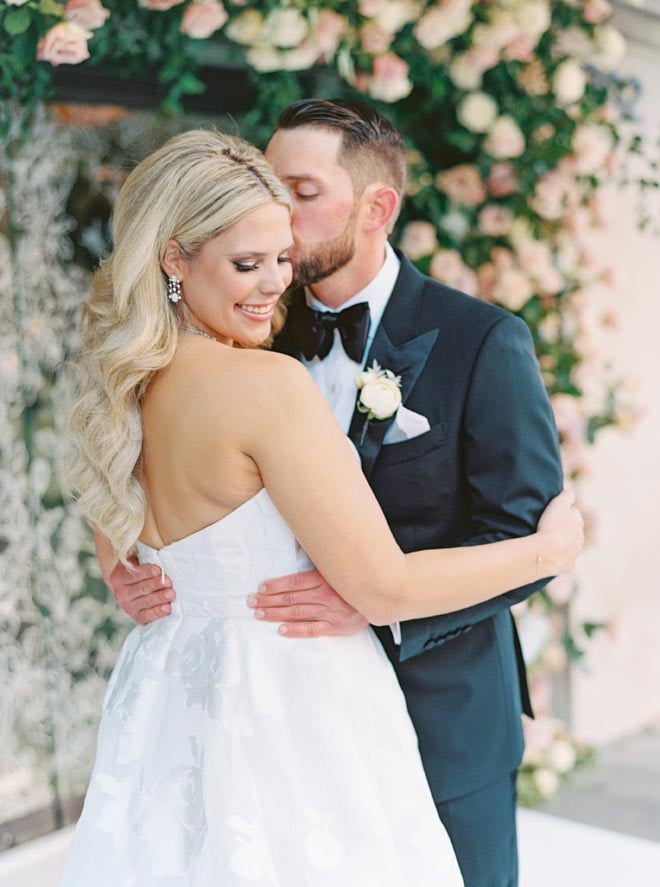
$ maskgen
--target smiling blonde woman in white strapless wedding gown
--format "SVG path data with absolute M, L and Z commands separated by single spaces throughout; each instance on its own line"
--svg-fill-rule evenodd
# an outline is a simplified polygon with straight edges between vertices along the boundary
M 370 629 L 292 646 L 247 596 L 311 561 L 374 624 L 570 569 L 564 493 L 520 539 L 404 555 L 307 371 L 259 346 L 291 282 L 262 155 L 194 131 L 124 184 L 82 321 L 82 509 L 172 577 L 103 702 L 65 887 L 460 887 L 394 672 Z

